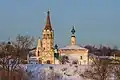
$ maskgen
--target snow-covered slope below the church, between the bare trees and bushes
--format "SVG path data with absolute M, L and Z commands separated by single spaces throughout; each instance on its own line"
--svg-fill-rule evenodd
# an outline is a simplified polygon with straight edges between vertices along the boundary
M 26 64 L 24 70 L 31 80 L 85 80 L 80 74 L 87 67 L 77 64 Z

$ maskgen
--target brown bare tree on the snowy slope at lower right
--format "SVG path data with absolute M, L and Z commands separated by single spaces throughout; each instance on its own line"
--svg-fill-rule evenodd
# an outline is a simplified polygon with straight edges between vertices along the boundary
M 84 78 L 92 80 L 107 80 L 110 77 L 110 60 L 92 58 L 92 65 L 82 75 Z

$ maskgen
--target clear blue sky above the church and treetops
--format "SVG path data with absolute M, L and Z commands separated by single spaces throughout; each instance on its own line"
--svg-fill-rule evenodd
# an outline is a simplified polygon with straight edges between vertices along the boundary
M 41 37 L 51 11 L 55 43 L 70 43 L 75 25 L 78 44 L 120 47 L 120 0 L 0 0 L 0 40 L 17 34 Z

